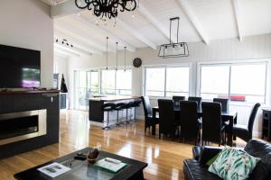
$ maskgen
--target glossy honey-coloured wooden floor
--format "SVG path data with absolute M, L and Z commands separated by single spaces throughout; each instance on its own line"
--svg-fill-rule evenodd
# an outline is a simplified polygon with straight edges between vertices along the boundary
M 145 161 L 146 179 L 183 179 L 182 161 L 192 157 L 192 145 L 158 139 L 144 132 L 144 121 L 136 121 L 115 130 L 100 130 L 90 125 L 87 112 L 61 112 L 60 143 L 0 160 L 0 179 L 85 147 Z

